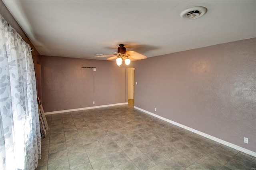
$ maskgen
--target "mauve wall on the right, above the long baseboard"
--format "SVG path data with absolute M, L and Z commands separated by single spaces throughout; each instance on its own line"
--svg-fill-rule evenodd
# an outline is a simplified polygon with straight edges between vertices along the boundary
M 136 107 L 256 152 L 256 38 L 136 61 L 135 81 Z

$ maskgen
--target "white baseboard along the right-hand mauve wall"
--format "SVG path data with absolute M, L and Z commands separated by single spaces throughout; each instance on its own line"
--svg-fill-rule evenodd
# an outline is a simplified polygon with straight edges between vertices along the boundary
M 194 132 L 194 133 L 196 133 L 196 134 L 200 134 L 201 136 L 204 136 L 204 137 L 206 137 L 206 138 L 209 138 L 209 139 L 211 139 L 211 140 L 214 140 L 214 141 L 219 142 L 219 143 L 221 143 L 221 144 L 224 144 L 224 145 L 226 145 L 226 146 L 229 146 L 230 148 L 234 148 L 234 149 L 236 149 L 236 150 L 239 150 L 239 151 L 241 151 L 241 152 L 244 152 L 244 153 L 246 153 L 246 154 L 249 154 L 249 155 L 251 155 L 251 156 L 256 157 L 256 152 L 253 152 L 253 151 L 251 151 L 251 150 L 242 148 L 242 147 L 237 146 L 237 145 L 235 145 L 235 144 L 232 144 L 232 143 L 230 143 L 230 142 L 226 142 L 225 140 L 221 140 L 221 139 L 219 139 L 219 138 L 216 138 L 216 137 L 211 136 L 211 135 L 209 135 L 209 134 L 200 132 L 200 131 L 198 131 L 198 130 L 196 130 L 196 129 L 187 127 L 187 126 L 182 125 L 182 124 L 180 124 L 180 123 L 171 121 L 171 120 L 169 120 L 169 119 L 166 119 L 166 118 L 164 118 L 164 117 L 161 117 L 161 116 L 159 116 L 159 115 L 156 115 L 156 114 L 154 114 L 154 113 L 151 113 L 151 112 L 149 112 L 149 111 L 146 111 L 146 110 L 144 110 L 144 109 L 140 109 L 139 107 L 134 106 L 134 108 L 135 108 L 135 109 L 138 109 L 138 110 L 140 110 L 140 111 L 143 111 L 143 112 L 145 112 L 145 113 L 147 113 L 147 114 L 149 114 L 149 115 L 152 115 L 152 116 L 154 116 L 154 117 L 157 117 L 157 118 L 159 118 L 159 119 L 162 119 L 163 121 L 166 121 L 166 122 L 168 122 L 168 123 L 172 123 L 173 125 L 176 125 L 176 126 L 178 126 L 178 127 L 184 128 L 184 129 L 189 130 L 189 131 L 191 131 L 191 132 Z

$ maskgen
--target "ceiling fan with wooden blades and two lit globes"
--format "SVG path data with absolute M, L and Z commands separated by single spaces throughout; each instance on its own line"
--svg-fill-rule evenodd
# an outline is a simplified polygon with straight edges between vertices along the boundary
M 129 65 L 131 61 L 136 61 L 138 59 L 146 59 L 148 58 L 146 55 L 137 53 L 136 51 L 126 51 L 124 44 L 119 44 L 117 48 L 116 54 L 96 54 L 95 57 L 109 57 L 107 60 L 114 60 L 116 59 L 116 64 L 120 67 L 122 62 L 124 61 L 126 65 Z

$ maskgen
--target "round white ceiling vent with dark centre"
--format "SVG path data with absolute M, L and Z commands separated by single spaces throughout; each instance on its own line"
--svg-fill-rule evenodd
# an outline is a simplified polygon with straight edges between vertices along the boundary
M 203 16 L 207 12 L 207 9 L 202 6 L 195 6 L 189 9 L 184 10 L 180 17 L 185 20 L 193 20 Z

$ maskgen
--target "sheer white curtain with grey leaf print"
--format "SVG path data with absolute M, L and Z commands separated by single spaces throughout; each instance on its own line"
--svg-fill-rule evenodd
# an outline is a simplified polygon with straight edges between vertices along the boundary
M 40 138 L 31 47 L 1 16 L 0 169 L 35 169 Z

